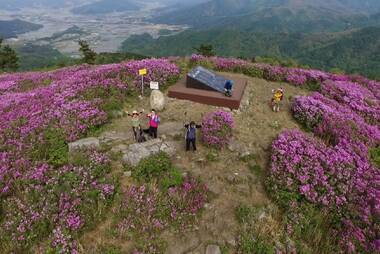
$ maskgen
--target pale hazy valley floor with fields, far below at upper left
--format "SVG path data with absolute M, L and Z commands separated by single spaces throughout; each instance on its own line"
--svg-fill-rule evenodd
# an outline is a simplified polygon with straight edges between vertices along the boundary
M 58 9 L 50 7 L 1 10 L 0 20 L 20 19 L 43 25 L 36 31 L 19 34 L 6 43 L 21 47 L 25 44 L 49 45 L 70 57 L 79 57 L 78 40 L 90 42 L 96 52 L 117 52 L 122 42 L 131 35 L 148 33 L 157 38 L 160 31 L 173 33 L 183 31 L 186 26 L 163 25 L 146 22 L 158 3 L 146 3 L 141 10 L 113 12 L 103 15 L 79 15 L 72 13 L 73 6 Z

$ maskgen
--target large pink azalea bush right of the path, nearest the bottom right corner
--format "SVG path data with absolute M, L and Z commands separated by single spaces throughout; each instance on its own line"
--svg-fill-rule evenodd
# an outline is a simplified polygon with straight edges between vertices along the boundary
M 304 197 L 326 207 L 338 220 L 334 230 L 342 246 L 350 252 L 370 252 L 376 248 L 378 172 L 369 165 L 358 168 L 357 159 L 301 132 L 285 132 L 273 144 L 271 191 L 281 202 Z M 288 195 L 291 200 L 284 200 L 288 192 L 300 197 Z

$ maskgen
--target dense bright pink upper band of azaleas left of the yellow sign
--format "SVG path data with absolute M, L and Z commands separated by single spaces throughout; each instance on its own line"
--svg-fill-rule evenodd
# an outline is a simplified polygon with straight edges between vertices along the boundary
M 0 161 L 0 193 L 7 193 L 14 180 L 24 174 L 22 170 L 32 167 L 29 152 L 46 144 L 46 129 L 62 130 L 65 140 L 73 141 L 105 123 L 107 114 L 102 107 L 127 93 L 128 80 L 139 80 L 142 66 L 149 68 L 146 82 L 165 83 L 179 74 L 167 60 L 150 59 L 0 76 L 0 151 L 5 151 Z M 47 79 L 52 80 L 48 86 L 43 82 Z M 34 88 L 22 92 L 25 82 L 35 84 Z M 122 99 L 116 100 L 119 107 Z M 22 167 L 15 165 L 17 158 L 23 158 Z

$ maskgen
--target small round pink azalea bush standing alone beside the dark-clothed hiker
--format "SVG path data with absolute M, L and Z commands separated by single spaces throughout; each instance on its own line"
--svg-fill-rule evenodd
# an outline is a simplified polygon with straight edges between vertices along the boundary
M 202 120 L 203 142 L 214 148 L 223 148 L 232 138 L 233 117 L 231 113 L 215 111 Z

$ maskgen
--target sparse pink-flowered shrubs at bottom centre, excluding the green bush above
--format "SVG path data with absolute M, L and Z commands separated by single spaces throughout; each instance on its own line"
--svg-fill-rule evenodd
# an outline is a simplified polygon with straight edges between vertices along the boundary
M 131 186 L 115 209 L 115 233 L 135 238 L 134 253 L 162 253 L 164 242 L 159 234 L 174 228 L 190 229 L 207 202 L 207 187 L 193 177 L 166 191 L 154 185 Z M 136 239 L 137 237 L 137 239 Z

